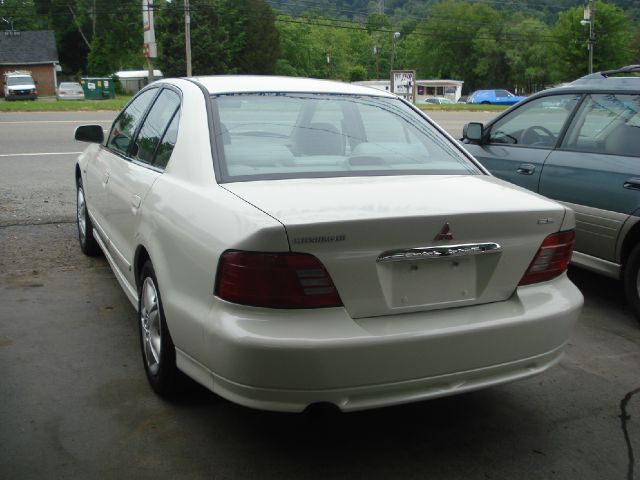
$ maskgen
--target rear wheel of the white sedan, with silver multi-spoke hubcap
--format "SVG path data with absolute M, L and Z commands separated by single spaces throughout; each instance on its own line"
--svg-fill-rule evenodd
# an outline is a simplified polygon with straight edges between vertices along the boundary
M 140 272 L 138 327 L 142 363 L 151 388 L 161 396 L 178 393 L 184 378 L 176 367 L 176 349 L 164 318 L 156 273 L 149 260 Z

